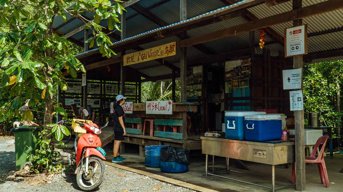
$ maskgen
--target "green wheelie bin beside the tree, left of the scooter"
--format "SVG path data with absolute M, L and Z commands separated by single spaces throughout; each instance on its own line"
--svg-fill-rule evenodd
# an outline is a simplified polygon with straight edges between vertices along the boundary
M 21 170 L 28 162 L 28 155 L 34 154 L 35 150 L 39 148 L 39 127 L 35 125 L 19 126 L 12 128 L 11 132 L 14 133 L 15 169 Z

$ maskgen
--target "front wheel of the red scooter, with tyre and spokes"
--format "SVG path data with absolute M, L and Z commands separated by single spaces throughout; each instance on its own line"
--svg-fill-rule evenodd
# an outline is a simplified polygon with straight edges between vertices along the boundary
M 85 162 L 86 158 L 83 159 Z M 91 156 L 88 159 L 88 173 L 86 175 L 86 164 L 83 165 L 76 174 L 76 182 L 82 191 L 93 191 L 104 180 L 105 163 L 99 157 Z

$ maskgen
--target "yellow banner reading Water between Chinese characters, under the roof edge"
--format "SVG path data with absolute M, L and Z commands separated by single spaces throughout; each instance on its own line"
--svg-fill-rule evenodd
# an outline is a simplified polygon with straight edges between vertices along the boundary
M 153 47 L 139 52 L 124 55 L 124 66 L 135 63 L 142 63 L 163 57 L 169 57 L 176 54 L 176 42 Z

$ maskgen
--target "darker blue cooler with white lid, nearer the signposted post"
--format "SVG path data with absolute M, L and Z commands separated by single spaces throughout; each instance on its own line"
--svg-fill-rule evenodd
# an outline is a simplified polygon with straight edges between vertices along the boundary
M 244 134 L 247 141 L 280 140 L 282 121 L 280 115 L 247 115 L 244 119 Z

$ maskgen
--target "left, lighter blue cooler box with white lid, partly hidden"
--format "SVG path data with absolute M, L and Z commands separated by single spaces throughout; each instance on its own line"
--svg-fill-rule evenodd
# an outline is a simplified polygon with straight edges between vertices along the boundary
M 227 139 L 244 140 L 244 116 L 263 115 L 257 111 L 228 111 L 225 113 L 225 136 Z

